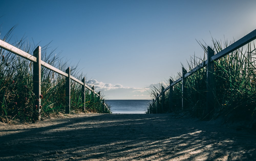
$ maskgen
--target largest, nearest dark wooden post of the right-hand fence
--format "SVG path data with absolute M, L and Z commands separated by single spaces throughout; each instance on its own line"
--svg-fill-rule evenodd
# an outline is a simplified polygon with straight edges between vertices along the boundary
M 214 93 L 215 93 L 215 64 L 214 61 L 211 61 L 211 57 L 214 56 L 214 51 L 208 46 L 207 47 L 207 67 L 206 67 L 206 87 L 207 87 L 207 93 L 206 93 L 206 111 L 205 116 L 206 118 L 209 118 L 212 115 L 212 112 L 214 110 Z

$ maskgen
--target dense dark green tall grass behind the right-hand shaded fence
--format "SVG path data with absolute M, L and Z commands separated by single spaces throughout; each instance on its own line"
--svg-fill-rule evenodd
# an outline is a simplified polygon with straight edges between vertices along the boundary
M 213 40 L 211 47 L 215 53 L 229 46 L 232 42 L 221 42 Z M 188 61 L 188 71 L 206 60 L 207 45 L 199 42 L 204 49 L 203 58 L 191 57 Z M 226 55 L 225 57 L 215 61 L 215 83 L 214 92 L 215 102 L 213 115 L 210 119 L 223 116 L 232 120 L 255 120 L 256 110 L 256 53 L 253 42 L 245 47 L 241 47 L 236 51 Z M 178 73 L 173 81 L 182 77 Z M 161 86 L 166 88 L 168 83 L 161 83 L 159 86 L 152 87 L 151 96 L 153 99 L 161 93 Z M 165 101 L 163 104 L 163 112 L 174 111 L 176 113 L 183 112 L 192 116 L 205 119 L 206 107 L 206 67 L 196 71 L 190 77 L 186 78 L 186 94 L 182 97 L 182 83 L 174 85 L 173 89 L 173 108 L 169 108 L 169 90 L 165 92 Z M 185 100 L 185 107 L 182 110 L 182 98 Z M 159 97 L 159 107 L 162 106 L 162 96 Z M 157 104 L 154 104 L 156 107 Z M 155 113 L 153 105 L 150 106 L 149 113 Z

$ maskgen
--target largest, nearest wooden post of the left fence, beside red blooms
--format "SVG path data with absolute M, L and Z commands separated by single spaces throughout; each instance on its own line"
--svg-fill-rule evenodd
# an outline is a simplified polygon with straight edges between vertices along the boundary
M 35 106 L 33 108 L 33 122 L 41 119 L 41 47 L 38 46 L 33 52 L 36 63 L 33 63 L 33 92 L 35 94 Z

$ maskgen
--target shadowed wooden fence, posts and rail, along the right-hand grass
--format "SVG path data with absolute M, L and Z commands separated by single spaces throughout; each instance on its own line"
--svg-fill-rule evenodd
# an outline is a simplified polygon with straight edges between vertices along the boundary
M 186 78 L 188 78 L 190 75 L 192 75 L 195 71 L 206 67 L 206 115 L 210 115 L 212 109 L 214 108 L 212 103 L 214 102 L 214 89 L 215 89 L 215 64 L 214 61 L 224 57 L 225 55 L 228 55 L 229 53 L 235 51 L 236 49 L 246 45 L 247 43 L 253 41 L 256 39 L 256 29 L 247 34 L 246 36 L 242 37 L 238 41 L 234 42 L 230 46 L 226 47 L 222 51 L 218 52 L 217 54 L 214 54 L 214 51 L 208 46 L 207 47 L 207 60 L 203 61 L 201 64 L 196 66 L 191 71 L 187 72 L 184 68 L 182 68 L 182 77 L 177 79 L 176 81 L 170 81 L 170 85 L 167 88 L 163 88 L 161 93 L 156 96 L 156 99 L 153 99 L 152 105 L 150 105 L 150 109 L 153 108 L 153 113 L 162 113 L 164 101 L 165 101 L 165 92 L 169 90 L 169 109 L 173 108 L 172 99 L 173 99 L 173 86 L 179 82 L 182 82 L 182 109 L 184 108 L 184 96 L 186 94 L 186 88 L 185 88 L 185 82 Z M 162 98 L 162 106 L 159 102 L 159 97 Z M 156 107 L 155 107 L 156 102 Z M 149 110 L 148 110 L 149 111 Z

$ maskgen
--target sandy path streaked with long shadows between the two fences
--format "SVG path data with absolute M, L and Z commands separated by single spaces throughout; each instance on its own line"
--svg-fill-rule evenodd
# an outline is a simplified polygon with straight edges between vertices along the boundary
M 0 160 L 256 160 L 256 131 L 172 114 L 0 124 Z

